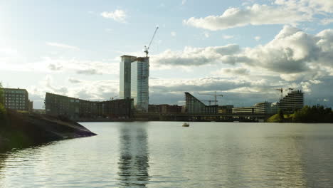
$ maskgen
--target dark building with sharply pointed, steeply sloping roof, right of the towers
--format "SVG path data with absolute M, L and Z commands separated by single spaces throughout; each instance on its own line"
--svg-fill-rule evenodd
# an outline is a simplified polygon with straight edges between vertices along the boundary
M 205 105 L 201 100 L 185 92 L 186 113 L 190 114 L 216 114 L 218 105 Z

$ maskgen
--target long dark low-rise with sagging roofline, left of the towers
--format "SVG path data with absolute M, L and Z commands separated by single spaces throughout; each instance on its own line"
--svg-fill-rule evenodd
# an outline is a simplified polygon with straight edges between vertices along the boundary
M 46 93 L 45 108 L 48 115 L 61 115 L 72 120 L 97 117 L 126 119 L 132 115 L 133 100 L 89 101 Z

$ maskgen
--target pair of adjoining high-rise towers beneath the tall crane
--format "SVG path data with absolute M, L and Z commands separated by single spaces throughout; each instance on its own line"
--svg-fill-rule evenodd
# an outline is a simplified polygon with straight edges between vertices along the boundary
M 148 112 L 149 57 L 122 56 L 120 98 L 133 98 L 134 109 Z

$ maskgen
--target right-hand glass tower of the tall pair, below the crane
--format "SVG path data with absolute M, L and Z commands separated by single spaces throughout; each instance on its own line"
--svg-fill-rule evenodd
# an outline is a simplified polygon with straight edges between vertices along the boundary
M 148 112 L 149 57 L 137 58 L 131 63 L 131 98 L 135 110 Z

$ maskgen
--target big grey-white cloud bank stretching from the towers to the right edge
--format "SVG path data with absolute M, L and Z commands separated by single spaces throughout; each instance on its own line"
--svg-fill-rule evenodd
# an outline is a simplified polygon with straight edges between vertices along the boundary
M 327 29 L 317 35 L 310 35 L 298 28 L 284 26 L 265 45 L 254 48 L 240 48 L 236 44 L 206 48 L 186 47 L 184 51 L 164 51 L 152 57 L 152 62 L 172 66 L 244 64 L 278 73 L 285 80 L 297 80 L 327 75 L 325 71 L 333 70 L 332 51 L 333 30 Z

